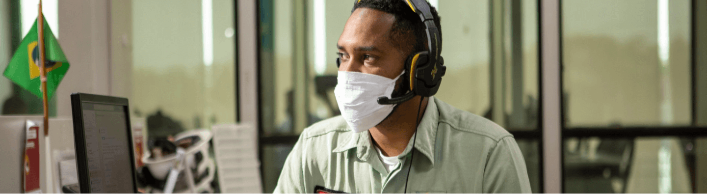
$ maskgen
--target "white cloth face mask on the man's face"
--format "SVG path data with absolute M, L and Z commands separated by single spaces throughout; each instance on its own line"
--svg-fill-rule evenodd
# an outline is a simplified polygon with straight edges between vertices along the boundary
M 374 74 L 339 72 L 334 96 L 341 116 L 354 132 L 375 127 L 390 115 L 395 105 L 380 105 L 377 100 L 382 96 L 391 97 L 399 77 L 388 79 Z

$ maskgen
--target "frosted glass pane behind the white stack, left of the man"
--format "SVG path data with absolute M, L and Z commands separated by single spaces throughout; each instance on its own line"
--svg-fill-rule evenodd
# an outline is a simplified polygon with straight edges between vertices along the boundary
M 132 23 L 114 23 L 114 33 L 132 29 L 119 40 L 129 42 L 122 56 L 132 55 L 131 110 L 146 119 L 149 135 L 235 122 L 234 2 L 130 4 Z

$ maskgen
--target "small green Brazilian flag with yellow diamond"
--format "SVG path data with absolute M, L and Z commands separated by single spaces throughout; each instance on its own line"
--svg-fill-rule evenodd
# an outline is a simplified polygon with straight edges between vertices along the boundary
M 44 21 L 44 41 L 45 41 L 45 72 L 47 72 L 47 98 L 52 98 L 54 91 L 57 91 L 59 82 L 64 78 L 64 74 L 69 70 L 69 61 L 64 56 L 59 41 L 54 37 L 54 33 L 49 29 L 47 20 Z M 31 91 L 42 98 L 42 81 L 40 79 L 39 45 L 37 34 L 37 21 L 30 28 L 30 32 L 22 39 L 20 47 L 17 48 L 10 64 L 7 65 L 4 75 L 11 81 L 18 84 L 23 89 Z

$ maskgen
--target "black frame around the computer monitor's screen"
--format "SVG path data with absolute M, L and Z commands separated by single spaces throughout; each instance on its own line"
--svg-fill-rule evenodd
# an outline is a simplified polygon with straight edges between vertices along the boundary
M 124 107 L 125 120 L 127 122 L 128 146 L 130 149 L 130 170 L 132 171 L 133 193 L 137 193 L 137 176 L 135 162 L 135 149 L 133 142 L 132 125 L 130 124 L 130 110 L 127 98 L 115 96 L 101 96 L 89 93 L 71 93 L 71 112 L 74 118 L 74 149 L 76 150 L 76 173 L 78 175 L 78 186 L 81 193 L 90 193 L 90 182 L 88 176 L 88 156 L 86 153 L 86 136 L 83 127 L 83 107 L 82 103 L 101 103 L 107 105 L 122 105 Z M 79 138 L 80 137 L 80 138 Z

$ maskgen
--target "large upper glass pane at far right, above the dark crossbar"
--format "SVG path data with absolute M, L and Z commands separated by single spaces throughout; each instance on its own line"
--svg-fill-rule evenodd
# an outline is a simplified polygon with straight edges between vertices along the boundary
M 568 127 L 689 125 L 691 1 L 562 1 Z

